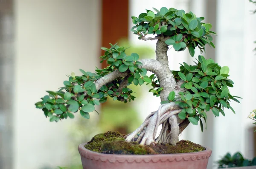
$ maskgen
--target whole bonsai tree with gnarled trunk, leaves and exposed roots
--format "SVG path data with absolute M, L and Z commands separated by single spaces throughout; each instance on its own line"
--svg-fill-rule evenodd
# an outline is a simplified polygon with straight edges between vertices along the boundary
M 129 85 L 150 84 L 154 96 L 160 96 L 159 109 L 149 113 L 143 124 L 134 132 L 125 136 L 126 141 L 137 137 L 140 144 L 167 143 L 175 145 L 178 135 L 188 126 L 198 121 L 203 131 L 203 123 L 207 121 L 210 110 L 215 116 L 225 115 L 224 108 L 235 111 L 230 101 L 239 102 L 232 96 L 228 87 L 233 87 L 233 81 L 228 79 L 229 68 L 221 67 L 212 59 L 198 56 L 195 65 L 181 64 L 180 70 L 170 70 L 167 51 L 184 51 L 186 48 L 193 57 L 195 49 L 201 53 L 205 45 L 215 48 L 210 31 L 212 25 L 203 23 L 204 17 L 196 17 L 192 12 L 163 7 L 138 17 L 132 17 L 134 27 L 131 31 L 140 40 L 156 40 L 156 58 L 139 59 L 139 55 L 125 54 L 125 47 L 110 44 L 110 48 L 101 48 L 105 54 L 101 62 L 107 61 L 109 66 L 96 69 L 96 73 L 82 69 L 81 76 L 71 73 L 64 87 L 57 92 L 47 91 L 49 95 L 41 98 L 35 105 L 44 111 L 49 121 L 61 121 L 64 118 L 74 118 L 80 113 L 84 118 L 90 118 L 90 112 L 96 111 L 99 105 L 111 98 L 125 103 L 133 101 L 134 91 Z M 147 76 L 150 71 L 154 74 Z M 142 105 L 146 106 L 146 105 Z M 97 112 L 97 111 L 96 111 Z M 163 124 L 157 139 L 157 128 Z

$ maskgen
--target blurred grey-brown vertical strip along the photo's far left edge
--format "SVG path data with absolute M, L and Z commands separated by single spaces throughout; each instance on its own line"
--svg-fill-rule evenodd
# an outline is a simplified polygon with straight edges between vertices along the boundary
M 13 168 L 13 22 L 12 0 L 0 0 L 0 169 Z

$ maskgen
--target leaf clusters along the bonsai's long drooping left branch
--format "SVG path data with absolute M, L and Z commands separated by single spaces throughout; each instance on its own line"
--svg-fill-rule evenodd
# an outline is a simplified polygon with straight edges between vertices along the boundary
M 64 118 L 74 118 L 73 113 L 78 111 L 82 117 L 90 118 L 89 113 L 95 110 L 95 105 L 104 103 L 108 97 L 125 103 L 134 100 L 135 97 L 132 96 L 134 92 L 126 86 L 120 89 L 121 83 L 127 81 L 127 86 L 132 83 L 143 85 L 144 82 L 151 83 L 154 81 L 154 77 L 149 78 L 146 76 L 147 70 L 139 68 L 142 63 L 137 61 L 139 59 L 138 54 L 133 53 L 128 56 L 125 54 L 124 47 L 119 47 L 117 44 L 110 45 L 111 48 L 102 48 L 105 54 L 100 57 L 101 62 L 107 60 L 107 63 L 110 64 L 107 68 L 97 68 L 96 73 L 79 69 L 82 73 L 81 76 L 71 73 L 71 76 L 68 76 L 69 79 L 64 81 L 64 87 L 61 87 L 57 92 L 47 91 L 49 94 L 42 97 L 42 101 L 35 103 L 36 108 L 42 109 L 50 121 L 58 122 Z M 117 78 L 96 90 L 95 82 L 116 70 L 121 73 L 127 71 L 129 75 Z

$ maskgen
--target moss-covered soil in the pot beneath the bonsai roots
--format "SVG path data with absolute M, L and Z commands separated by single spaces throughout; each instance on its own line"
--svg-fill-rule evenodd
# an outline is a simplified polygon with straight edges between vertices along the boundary
M 170 144 L 143 146 L 137 142 L 126 142 L 123 136 L 119 132 L 97 134 L 84 147 L 99 153 L 128 155 L 175 154 L 205 150 L 201 145 L 186 140 L 179 141 L 176 146 Z

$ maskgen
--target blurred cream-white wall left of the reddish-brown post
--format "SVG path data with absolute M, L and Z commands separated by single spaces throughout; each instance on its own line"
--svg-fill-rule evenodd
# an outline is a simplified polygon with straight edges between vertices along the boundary
M 15 169 L 65 166 L 67 127 L 49 122 L 35 102 L 72 71 L 99 66 L 100 0 L 15 0 Z M 76 116 L 78 116 L 77 114 Z

